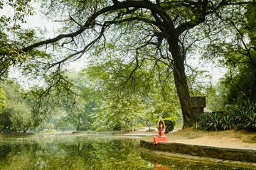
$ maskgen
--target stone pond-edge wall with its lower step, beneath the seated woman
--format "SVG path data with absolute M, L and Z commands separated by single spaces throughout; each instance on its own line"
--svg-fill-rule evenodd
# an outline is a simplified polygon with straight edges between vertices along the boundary
M 233 162 L 234 164 L 247 164 L 256 168 L 256 149 L 238 149 L 227 147 L 211 147 L 202 145 L 188 145 L 176 142 L 160 142 L 153 146 L 153 142 L 140 140 L 140 147 L 148 152 L 161 152 L 172 154 L 173 157 L 187 157 L 187 159 L 207 159 L 213 162 Z

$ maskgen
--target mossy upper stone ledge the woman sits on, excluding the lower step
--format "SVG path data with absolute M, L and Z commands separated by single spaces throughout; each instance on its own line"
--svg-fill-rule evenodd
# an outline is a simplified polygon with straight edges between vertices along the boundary
M 146 140 L 140 140 L 140 147 L 157 151 L 188 154 L 197 157 L 210 157 L 239 162 L 256 162 L 255 149 L 210 147 L 201 145 L 188 145 L 175 142 L 160 142 L 158 145 L 153 146 L 153 142 Z

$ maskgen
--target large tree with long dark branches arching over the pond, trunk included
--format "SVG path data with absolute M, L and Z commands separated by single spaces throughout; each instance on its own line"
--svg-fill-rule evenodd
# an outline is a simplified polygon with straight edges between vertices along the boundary
M 97 51 L 109 47 L 109 44 L 122 46 L 116 49 L 115 55 L 133 67 L 127 81 L 136 78 L 134 73 L 140 71 L 145 60 L 151 61 L 155 67 L 164 63 L 169 67 L 167 74 L 174 74 L 183 128 L 186 128 L 196 121 L 186 79 L 187 50 L 201 38 L 201 33 L 211 33 L 211 28 L 218 25 L 222 15 L 228 16 L 228 12 L 233 10 L 232 6 L 247 3 L 235 0 L 49 0 L 44 1 L 44 5 L 50 9 L 51 16 L 59 16 L 54 18 L 64 22 L 63 32 L 31 45 L 28 45 L 31 43 L 28 40 L 16 45 L 26 55 L 30 53 L 31 62 L 26 65 L 29 71 L 31 65 L 38 64 L 34 68 L 36 72 L 45 70 L 44 76 L 50 72 L 46 81 L 52 85 L 48 90 L 58 82 L 68 84 L 63 76 L 63 64 L 80 59 L 92 47 L 97 47 L 94 49 Z M 52 57 L 36 51 L 43 46 L 53 47 Z M 65 53 L 60 55 L 58 50 L 62 47 Z M 1 52 L 1 55 L 9 57 L 9 60 L 15 57 L 8 52 Z

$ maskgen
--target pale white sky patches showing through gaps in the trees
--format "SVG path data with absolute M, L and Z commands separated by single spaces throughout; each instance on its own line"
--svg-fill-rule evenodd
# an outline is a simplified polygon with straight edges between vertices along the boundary
M 58 28 L 61 28 L 60 23 L 55 22 L 53 20 L 46 20 L 46 18 L 43 17 L 42 14 L 40 14 L 40 11 L 38 10 L 38 5 L 35 3 L 33 4 L 35 6 L 35 11 L 33 16 L 27 17 L 27 23 L 22 24 L 23 28 L 46 28 L 48 30 L 48 33 L 45 35 L 46 37 L 52 38 L 55 35 L 55 31 L 58 30 Z M 10 8 L 4 8 L 0 11 L 1 15 L 10 16 L 12 11 Z M 200 60 L 198 56 L 188 57 L 186 60 L 186 63 L 192 66 L 193 68 L 198 67 L 200 70 L 206 70 L 209 72 L 210 76 L 212 77 L 211 82 L 215 85 L 220 77 L 223 77 L 223 75 L 226 72 L 226 69 L 221 67 L 216 67 L 211 62 L 206 62 L 203 60 Z M 77 62 L 72 62 L 69 64 L 68 68 L 71 70 L 79 70 L 85 67 L 85 60 L 78 60 Z M 18 71 L 18 69 L 11 69 L 11 74 L 9 75 L 11 78 L 19 79 L 21 84 L 26 84 L 27 86 L 33 86 L 33 84 L 36 84 L 36 81 L 28 82 L 28 79 L 26 77 L 23 77 L 21 73 Z M 209 79 L 201 79 L 201 81 L 209 81 Z M 23 82 L 23 83 L 22 83 Z

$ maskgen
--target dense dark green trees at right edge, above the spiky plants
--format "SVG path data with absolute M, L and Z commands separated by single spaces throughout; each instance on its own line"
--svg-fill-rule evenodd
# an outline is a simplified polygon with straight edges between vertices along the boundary
M 238 13 L 241 9 L 235 8 L 234 11 Z M 206 50 L 206 55 L 210 54 L 209 58 L 215 60 L 213 56 L 216 55 L 218 62 L 228 69 L 220 79 L 218 91 L 210 100 L 216 106 L 221 104 L 222 109 L 225 105 L 234 105 L 247 98 L 256 101 L 256 5 L 244 6 L 243 11 L 245 13 L 242 15 L 223 21 L 228 22 L 225 25 L 229 27 L 229 31 L 221 35 L 223 42 L 209 44 L 212 50 Z M 218 108 L 214 110 L 220 111 Z

